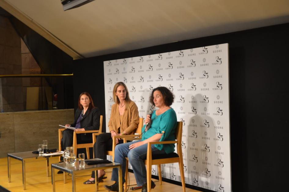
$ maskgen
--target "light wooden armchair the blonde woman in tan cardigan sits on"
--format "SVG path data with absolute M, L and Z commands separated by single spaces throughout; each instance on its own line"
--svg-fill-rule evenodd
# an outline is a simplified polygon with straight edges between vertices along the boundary
M 141 134 L 142 132 L 142 127 L 143 127 L 143 118 L 139 118 L 139 125 L 135 131 L 135 133 L 138 133 L 139 135 Z M 92 142 L 93 144 L 96 142 L 96 137 L 97 135 L 99 135 L 101 133 L 92 133 Z M 114 149 L 115 149 L 115 146 L 117 145 L 116 143 L 116 138 L 121 138 L 121 139 L 124 139 L 124 138 L 134 138 L 134 137 L 138 137 L 138 135 L 118 135 L 118 136 L 114 136 L 113 137 L 113 147 L 112 147 L 112 151 L 106 151 L 106 155 L 110 155 L 113 157 L 113 160 L 114 160 Z M 93 154 L 93 158 L 94 158 L 94 154 Z

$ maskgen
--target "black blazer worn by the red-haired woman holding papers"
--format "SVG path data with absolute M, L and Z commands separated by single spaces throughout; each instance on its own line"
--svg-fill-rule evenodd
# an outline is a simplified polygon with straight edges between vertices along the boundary
M 74 115 L 74 122 L 71 124 L 72 127 L 75 127 L 77 119 L 80 116 L 82 110 L 80 108 L 76 109 Z M 99 130 L 99 119 L 100 112 L 97 107 L 91 109 L 84 114 L 83 118 L 80 120 L 80 128 L 84 128 L 86 131 Z M 80 134 L 81 140 L 92 140 L 92 133 Z

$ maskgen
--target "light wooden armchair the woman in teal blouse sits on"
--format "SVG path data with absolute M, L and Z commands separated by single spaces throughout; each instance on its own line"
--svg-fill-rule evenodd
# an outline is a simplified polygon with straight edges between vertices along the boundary
M 147 181 L 147 191 L 150 192 L 151 187 L 151 166 L 157 165 L 158 170 L 158 178 L 161 182 L 161 164 L 167 164 L 167 163 L 179 163 L 180 168 L 180 174 L 181 174 L 181 180 L 182 180 L 182 187 L 183 192 L 186 191 L 186 185 L 185 185 L 185 176 L 183 171 L 183 153 L 182 153 L 182 129 L 183 129 L 183 122 L 178 122 L 176 127 L 176 140 L 175 141 L 158 141 L 158 142 L 149 142 L 147 144 L 147 154 L 146 159 L 144 160 L 144 163 L 146 165 L 146 181 Z M 177 144 L 177 153 L 170 153 L 166 155 L 154 155 L 151 154 L 151 145 L 153 144 Z M 127 166 L 128 166 L 128 159 L 127 159 Z M 127 186 L 127 175 L 128 171 L 125 172 L 125 184 L 124 186 Z

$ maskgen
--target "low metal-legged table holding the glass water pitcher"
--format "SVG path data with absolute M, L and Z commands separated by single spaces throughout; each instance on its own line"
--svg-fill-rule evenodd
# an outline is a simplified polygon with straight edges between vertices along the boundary
M 102 160 L 102 159 L 89 159 L 91 160 Z M 86 172 L 86 171 L 95 171 L 95 190 L 98 191 L 98 172 L 100 169 L 108 169 L 108 168 L 118 168 L 118 181 L 119 181 L 119 191 L 122 192 L 122 171 L 120 163 L 108 163 L 108 164 L 98 164 L 98 165 L 87 165 L 84 163 L 84 167 L 79 167 L 79 161 L 76 161 L 73 165 L 67 165 L 66 163 L 53 163 L 51 164 L 51 184 L 52 191 L 55 192 L 55 170 L 59 169 L 63 172 L 70 173 L 72 175 L 72 191 L 76 192 L 76 180 L 75 174 Z M 64 173 L 64 183 L 66 183 L 66 174 Z

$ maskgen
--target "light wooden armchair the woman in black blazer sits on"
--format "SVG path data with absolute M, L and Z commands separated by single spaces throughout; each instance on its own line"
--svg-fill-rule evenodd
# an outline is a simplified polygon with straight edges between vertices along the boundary
M 87 159 L 90 159 L 90 155 L 89 155 L 89 148 L 90 147 L 93 147 L 93 144 L 94 143 L 77 143 L 77 140 L 76 140 L 76 136 L 77 134 L 80 134 L 80 133 L 101 133 L 101 130 L 102 130 L 102 118 L 103 116 L 101 115 L 100 116 L 100 119 L 99 119 L 99 130 L 91 130 L 91 131 L 74 131 L 73 132 L 73 150 L 74 150 L 74 154 L 77 155 L 77 149 L 80 149 L 80 148 L 86 148 L 86 154 L 87 154 Z M 65 129 L 58 129 L 58 147 L 59 147 L 59 151 L 61 151 L 61 145 L 60 145 L 60 142 L 61 142 L 61 138 L 62 138 L 62 131 L 65 130 Z M 59 157 L 60 159 L 60 157 Z

